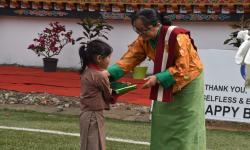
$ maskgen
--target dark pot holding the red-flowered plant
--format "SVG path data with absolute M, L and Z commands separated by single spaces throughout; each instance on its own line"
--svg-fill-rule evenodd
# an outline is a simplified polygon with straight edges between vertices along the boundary
M 56 72 L 57 58 L 43 58 L 43 70 L 44 72 Z

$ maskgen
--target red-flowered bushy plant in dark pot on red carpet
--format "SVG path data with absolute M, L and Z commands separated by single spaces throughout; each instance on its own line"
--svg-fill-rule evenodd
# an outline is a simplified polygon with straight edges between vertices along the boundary
M 59 55 L 67 44 L 74 44 L 72 33 L 71 30 L 66 31 L 65 26 L 59 22 L 52 22 L 42 33 L 38 33 L 38 38 L 33 40 L 34 44 L 29 45 L 28 49 L 34 51 L 37 56 L 44 57 L 45 72 L 56 71 L 58 59 L 52 57 Z

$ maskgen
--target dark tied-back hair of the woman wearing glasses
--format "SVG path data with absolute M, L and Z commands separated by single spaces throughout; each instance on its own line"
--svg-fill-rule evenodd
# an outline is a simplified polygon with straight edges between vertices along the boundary
M 167 18 L 167 16 L 160 15 L 157 11 L 153 8 L 144 8 L 139 10 L 137 13 L 131 16 L 131 24 L 134 26 L 134 22 L 136 19 L 141 19 L 144 26 L 156 26 L 158 22 L 163 25 L 171 25 L 171 20 Z

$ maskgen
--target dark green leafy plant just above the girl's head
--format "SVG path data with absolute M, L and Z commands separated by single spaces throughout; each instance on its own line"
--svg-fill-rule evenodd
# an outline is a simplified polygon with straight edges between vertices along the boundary
M 83 36 L 76 39 L 76 41 L 81 41 L 80 44 L 87 44 L 90 40 L 96 38 L 108 40 L 106 34 L 113 29 L 113 27 L 102 18 L 85 18 L 81 19 L 81 22 L 77 24 L 81 25 L 83 28 Z

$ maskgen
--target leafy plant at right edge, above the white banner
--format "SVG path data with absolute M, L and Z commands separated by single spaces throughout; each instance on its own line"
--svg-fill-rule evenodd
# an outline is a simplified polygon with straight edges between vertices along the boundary
M 236 38 L 237 34 L 241 30 L 250 30 L 250 19 L 245 19 L 245 17 L 242 16 L 239 22 L 231 24 L 230 26 L 236 31 L 232 32 L 229 35 L 230 38 L 226 39 L 224 41 L 224 44 L 229 44 L 233 45 L 234 47 L 239 47 L 242 41 Z

